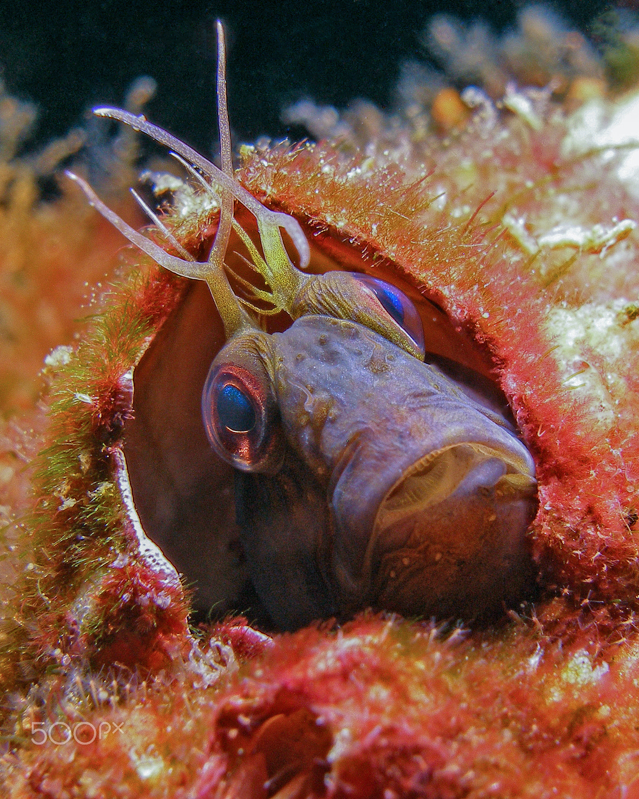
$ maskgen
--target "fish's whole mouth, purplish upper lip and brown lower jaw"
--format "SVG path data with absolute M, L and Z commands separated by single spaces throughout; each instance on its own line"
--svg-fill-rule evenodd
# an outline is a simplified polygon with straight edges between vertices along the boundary
M 509 451 L 499 439 L 418 440 L 383 463 L 359 439 L 329 494 L 347 613 L 365 604 L 474 618 L 520 598 L 533 577 L 526 529 L 537 484 L 518 442 Z

